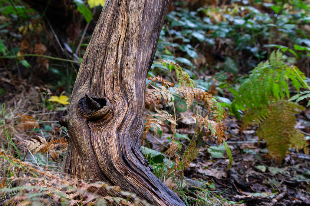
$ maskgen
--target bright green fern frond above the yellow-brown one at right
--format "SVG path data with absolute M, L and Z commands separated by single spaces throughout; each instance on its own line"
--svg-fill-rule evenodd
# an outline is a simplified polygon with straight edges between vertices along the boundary
M 274 51 L 268 61 L 259 63 L 250 72 L 250 78 L 240 86 L 234 102 L 254 109 L 283 101 L 286 97 L 290 98 L 289 81 L 299 91 L 305 76 L 298 68 L 287 66 L 282 57 L 280 51 Z

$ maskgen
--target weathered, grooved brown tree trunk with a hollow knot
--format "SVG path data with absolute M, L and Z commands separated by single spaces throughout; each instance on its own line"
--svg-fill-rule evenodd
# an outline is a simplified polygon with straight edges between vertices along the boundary
M 69 146 L 60 172 L 104 181 L 153 205 L 185 205 L 141 152 L 145 80 L 169 0 L 107 1 L 60 124 Z M 108 193 L 104 189 L 102 195 Z M 118 194 L 114 194 L 118 195 Z

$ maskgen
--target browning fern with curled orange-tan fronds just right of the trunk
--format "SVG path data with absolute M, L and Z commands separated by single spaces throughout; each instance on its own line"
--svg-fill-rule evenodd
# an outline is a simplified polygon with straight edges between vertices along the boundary
M 223 126 L 223 120 L 226 117 L 226 112 L 209 92 L 195 87 L 194 81 L 179 64 L 166 60 L 158 60 L 157 62 L 168 67 L 170 72 L 172 69 L 175 69 L 179 84 L 175 85 L 174 83 L 163 80 L 162 77 L 148 77 L 149 82 L 146 86 L 145 99 L 146 103 L 154 105 L 156 113 L 150 115 L 155 118 L 150 118 L 145 123 L 143 139 L 146 138 L 146 134 L 151 127 L 153 127 L 155 134 L 157 134 L 157 128 L 162 130 L 161 125 L 164 125 L 164 121 L 169 122 L 172 132 L 172 145 L 166 151 L 166 154 L 169 157 L 176 157 L 175 169 L 179 166 L 184 168 L 184 166 L 187 167 L 196 158 L 197 147 L 199 147 L 197 142 L 201 140 L 205 142 L 208 138 L 216 138 L 218 143 L 222 143 L 225 140 L 224 129 L 226 127 Z M 182 114 L 178 114 L 178 111 L 175 109 L 176 98 L 184 100 L 186 104 L 186 110 L 180 112 Z M 173 114 L 156 108 L 161 102 L 161 99 L 164 99 L 167 107 L 172 106 Z M 205 113 L 205 115 L 203 116 L 202 113 Z M 181 119 L 187 121 L 189 124 L 194 122 L 197 125 L 196 133 L 193 135 L 189 144 L 185 145 L 187 149 L 183 153 L 182 158 L 178 153 L 179 145 L 176 143 L 175 138 L 175 128 L 178 125 L 177 122 Z M 188 154 L 191 155 L 189 156 Z

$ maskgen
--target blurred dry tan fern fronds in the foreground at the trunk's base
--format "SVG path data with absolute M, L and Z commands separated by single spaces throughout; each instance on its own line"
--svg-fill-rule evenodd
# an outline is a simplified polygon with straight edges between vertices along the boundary
M 109 186 L 105 182 L 88 183 L 83 180 L 62 177 L 50 171 L 38 170 L 29 162 L 23 162 L 0 151 L 0 157 L 7 161 L 1 161 L 6 168 L 14 165 L 12 176 L 1 179 L 0 195 L 6 198 L 0 200 L 0 204 L 13 205 L 107 205 L 114 202 L 124 206 L 145 205 L 141 200 L 127 191 L 122 191 L 118 186 Z M 23 177 L 18 176 L 19 169 L 27 171 Z M 27 176 L 27 174 L 31 174 Z M 12 186 L 12 182 L 22 182 L 21 186 Z M 96 191 L 105 188 L 111 195 L 102 197 Z M 4 202 L 3 202 L 4 201 Z

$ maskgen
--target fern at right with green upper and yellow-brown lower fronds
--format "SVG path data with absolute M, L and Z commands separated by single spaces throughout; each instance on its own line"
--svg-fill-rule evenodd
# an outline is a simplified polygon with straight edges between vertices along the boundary
M 288 66 L 278 50 L 272 52 L 265 63 L 260 63 L 242 82 L 234 94 L 231 109 L 238 117 L 245 111 L 243 127 L 259 125 L 258 136 L 267 142 L 272 157 L 281 160 L 289 148 L 307 146 L 299 130 L 294 128 L 297 110 L 303 106 L 287 101 L 290 97 L 289 83 L 299 92 L 304 87 L 304 75 L 298 68 Z M 305 152 L 308 151 L 305 149 Z

